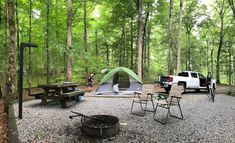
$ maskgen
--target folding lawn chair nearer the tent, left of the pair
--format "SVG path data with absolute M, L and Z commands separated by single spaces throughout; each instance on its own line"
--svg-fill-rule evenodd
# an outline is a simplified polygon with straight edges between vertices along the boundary
M 131 105 L 131 113 L 138 116 L 144 116 L 145 112 L 154 112 L 154 103 L 153 103 L 153 89 L 154 85 L 143 85 L 143 92 L 135 92 L 134 98 Z M 152 110 L 147 109 L 148 102 L 152 104 Z M 134 104 L 140 104 L 141 112 L 134 112 Z

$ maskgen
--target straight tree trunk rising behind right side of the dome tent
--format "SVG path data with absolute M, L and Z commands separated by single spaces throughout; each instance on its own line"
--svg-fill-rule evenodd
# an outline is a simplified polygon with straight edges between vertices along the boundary
M 138 77 L 142 81 L 142 0 L 137 2 L 138 8 Z

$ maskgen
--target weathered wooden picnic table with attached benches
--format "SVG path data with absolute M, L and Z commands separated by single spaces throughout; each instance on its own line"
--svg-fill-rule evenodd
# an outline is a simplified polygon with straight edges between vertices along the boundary
M 41 96 L 43 105 L 47 103 L 47 99 L 53 99 L 59 100 L 62 108 L 67 107 L 66 101 L 69 99 L 76 99 L 78 96 L 83 96 L 85 93 L 84 91 L 76 90 L 77 84 L 74 82 L 45 84 L 39 85 L 38 87 L 44 90 Z

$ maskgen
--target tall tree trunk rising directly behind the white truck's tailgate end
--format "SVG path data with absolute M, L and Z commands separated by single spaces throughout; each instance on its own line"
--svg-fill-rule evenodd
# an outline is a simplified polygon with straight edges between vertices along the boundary
M 169 75 L 172 75 L 174 73 L 172 13 L 173 13 L 173 0 L 170 0 L 169 25 L 168 25 L 168 38 L 169 38 L 168 73 L 169 73 Z

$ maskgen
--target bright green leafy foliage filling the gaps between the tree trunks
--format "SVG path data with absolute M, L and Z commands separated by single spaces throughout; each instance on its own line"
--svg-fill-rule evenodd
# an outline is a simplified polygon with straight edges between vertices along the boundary
M 224 20 L 225 35 L 224 46 L 221 54 L 221 80 L 229 81 L 228 65 L 231 71 L 235 69 L 235 59 L 229 63 L 229 52 L 235 53 L 235 26 L 232 10 L 226 2 L 226 16 Z M 146 12 L 149 11 L 147 30 L 150 29 L 150 39 L 145 42 L 149 45 L 149 53 L 145 59 L 149 59 L 149 66 L 144 63 L 146 70 L 143 81 L 157 80 L 158 75 L 166 75 L 168 71 L 168 18 L 169 1 L 167 0 L 142 0 L 143 22 Z M 149 8 L 147 5 L 150 5 Z M 3 16 L 3 1 L 1 16 Z M 187 55 L 191 53 L 191 63 L 194 71 L 206 74 L 208 71 L 215 75 L 216 56 L 219 43 L 220 17 L 216 14 L 215 3 L 211 3 L 211 9 L 202 5 L 199 1 L 183 1 L 183 25 L 181 39 L 181 70 L 188 70 Z M 39 45 L 37 49 L 25 51 L 24 78 L 31 75 L 33 86 L 46 83 L 46 65 L 50 65 L 51 82 L 65 80 L 65 52 L 72 57 L 72 80 L 85 85 L 85 67 L 89 73 L 94 73 L 95 82 L 99 83 L 103 75 L 102 69 L 124 66 L 137 71 L 137 7 L 134 0 L 90 0 L 87 1 L 88 22 L 88 52 L 85 52 L 83 41 L 83 1 L 73 1 L 72 23 L 72 47 L 65 51 L 67 36 L 67 3 L 66 1 L 51 0 L 49 13 L 49 51 L 50 62 L 46 61 L 45 30 L 46 7 L 44 1 L 32 1 L 32 43 Z M 19 33 L 20 42 L 29 39 L 29 1 L 18 0 Z M 211 14 L 210 14 L 211 13 Z M 173 36 L 174 36 L 174 61 L 176 66 L 176 48 L 178 36 L 179 0 L 174 1 L 173 9 Z M 131 37 L 131 19 L 133 20 L 133 37 Z M 2 17 L 0 34 L 2 35 Z M 190 36 L 190 41 L 188 39 Z M 131 40 L 133 40 L 133 63 L 131 63 Z M 149 42 L 149 43 L 148 43 Z M 188 43 L 190 42 L 190 43 Z M 2 40 L 0 41 L 0 73 L 3 72 Z M 16 52 L 16 54 L 18 51 Z M 211 56 L 212 54 L 212 56 Z M 88 64 L 85 65 L 85 60 Z M 32 64 L 32 72 L 29 73 L 28 64 Z M 211 69 L 213 67 L 213 69 Z M 176 67 L 175 67 L 176 68 Z M 232 72 L 232 81 L 235 83 L 235 74 Z M 27 86 L 27 80 L 24 85 Z

